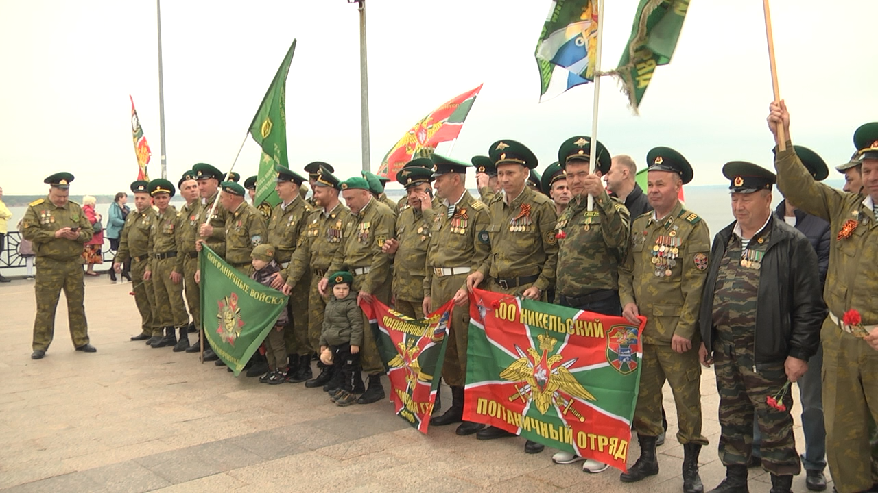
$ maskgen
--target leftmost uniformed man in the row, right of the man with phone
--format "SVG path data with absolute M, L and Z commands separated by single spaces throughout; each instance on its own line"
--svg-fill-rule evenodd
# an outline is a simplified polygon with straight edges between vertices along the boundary
M 112 268 L 121 272 L 122 266 L 131 260 L 131 282 L 134 292 L 134 303 L 137 311 L 140 311 L 141 332 L 131 340 L 147 340 L 148 344 L 155 341 L 152 339 L 153 332 L 161 332 L 159 318 L 155 314 L 155 289 L 153 282 L 143 279 L 143 273 L 147 270 L 149 258 L 152 252 L 149 250 L 149 234 L 155 224 L 155 209 L 152 208 L 152 197 L 149 196 L 149 182 L 138 180 L 131 184 L 134 194 L 134 211 L 128 213 L 125 218 L 125 226 L 119 235 L 119 252 Z

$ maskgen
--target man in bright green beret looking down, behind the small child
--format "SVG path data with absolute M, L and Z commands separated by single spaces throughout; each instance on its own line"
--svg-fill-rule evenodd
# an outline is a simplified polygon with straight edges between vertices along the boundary
M 390 304 L 390 259 L 381 247 L 393 237 L 393 211 L 371 195 L 369 183 L 359 176 L 342 182 L 342 196 L 351 215 L 343 230 L 343 245 L 335 252 L 327 274 L 317 285 L 320 295 L 331 294 L 327 292 L 329 274 L 347 270 L 354 275 L 352 288 L 359 291 L 360 300 L 375 297 L 383 304 Z M 363 324 L 369 324 L 365 316 Z M 364 326 L 363 331 L 363 371 L 369 375 L 369 387 L 356 402 L 371 404 L 385 397 L 381 384 L 385 366 L 371 327 Z

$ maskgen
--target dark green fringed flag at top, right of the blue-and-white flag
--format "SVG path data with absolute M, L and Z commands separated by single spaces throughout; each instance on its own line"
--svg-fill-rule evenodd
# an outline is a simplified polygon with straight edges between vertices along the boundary
M 640 0 L 628 45 L 613 72 L 623 82 L 634 111 L 644 98 L 652 73 L 671 61 L 680 38 L 689 0 Z

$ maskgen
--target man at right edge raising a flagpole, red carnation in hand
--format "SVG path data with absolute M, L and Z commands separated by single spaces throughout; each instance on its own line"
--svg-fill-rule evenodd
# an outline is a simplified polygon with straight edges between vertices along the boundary
M 866 430 L 870 418 L 878 420 L 878 123 L 861 125 L 853 134 L 862 186 L 851 193 L 815 181 L 802 165 L 791 145 L 782 101 L 771 104 L 768 124 L 779 146 L 778 125 L 787 136 L 786 150 L 778 150 L 774 159 L 778 188 L 802 211 L 829 221 L 833 238 L 824 289 L 829 316 L 820 333 L 832 480 L 839 493 L 874 490 Z M 859 323 L 846 319 L 851 310 L 859 312 Z

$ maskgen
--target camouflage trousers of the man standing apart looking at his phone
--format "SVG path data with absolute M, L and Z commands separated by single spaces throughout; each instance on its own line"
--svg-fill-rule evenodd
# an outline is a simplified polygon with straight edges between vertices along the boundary
M 37 316 L 33 320 L 34 351 L 46 351 L 54 337 L 54 316 L 61 289 L 67 298 L 67 320 L 74 347 L 89 343 L 89 326 L 85 321 L 85 275 L 81 257 L 69 261 L 54 261 L 37 257 L 36 281 L 33 291 L 37 298 Z

